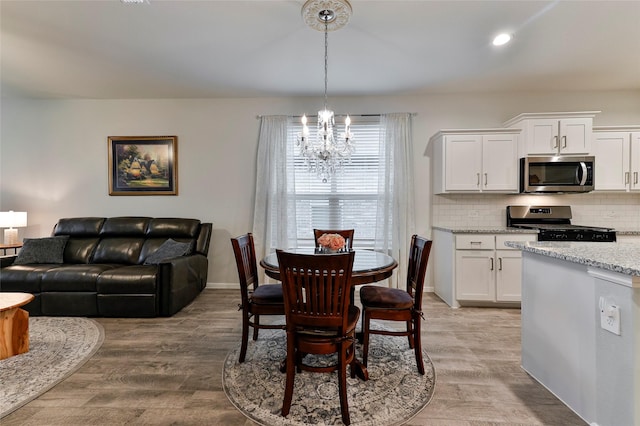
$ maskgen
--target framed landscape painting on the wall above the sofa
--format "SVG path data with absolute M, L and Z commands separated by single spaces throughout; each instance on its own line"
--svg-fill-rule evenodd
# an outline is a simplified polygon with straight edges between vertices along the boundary
M 178 195 L 177 136 L 109 136 L 109 195 Z

